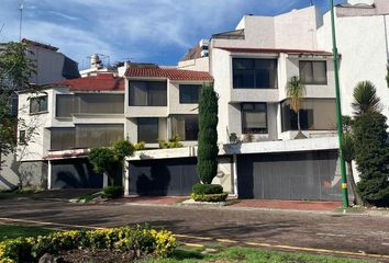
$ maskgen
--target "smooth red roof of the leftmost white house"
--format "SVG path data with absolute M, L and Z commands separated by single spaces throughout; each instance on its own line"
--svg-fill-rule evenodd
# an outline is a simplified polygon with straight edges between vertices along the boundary
M 124 79 L 112 73 L 98 73 L 86 78 L 63 80 L 55 85 L 69 85 L 69 91 L 124 91 Z

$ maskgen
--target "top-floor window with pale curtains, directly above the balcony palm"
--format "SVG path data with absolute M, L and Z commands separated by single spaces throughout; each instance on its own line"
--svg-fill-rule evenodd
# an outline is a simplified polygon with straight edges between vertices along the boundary
M 304 84 L 326 84 L 326 61 L 300 61 L 300 79 Z

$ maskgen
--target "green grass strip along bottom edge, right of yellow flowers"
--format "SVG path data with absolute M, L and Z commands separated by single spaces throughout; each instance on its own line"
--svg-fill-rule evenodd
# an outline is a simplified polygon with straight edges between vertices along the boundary
M 169 259 L 145 259 L 141 263 L 363 263 L 370 261 L 334 258 L 330 255 L 302 254 L 233 247 L 214 254 L 202 254 L 198 251 L 178 249 Z

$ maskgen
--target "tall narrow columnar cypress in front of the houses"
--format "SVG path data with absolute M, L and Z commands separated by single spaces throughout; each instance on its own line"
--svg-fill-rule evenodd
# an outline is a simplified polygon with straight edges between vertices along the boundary
M 199 100 L 199 148 L 197 172 L 203 184 L 211 184 L 218 173 L 218 94 L 204 84 Z

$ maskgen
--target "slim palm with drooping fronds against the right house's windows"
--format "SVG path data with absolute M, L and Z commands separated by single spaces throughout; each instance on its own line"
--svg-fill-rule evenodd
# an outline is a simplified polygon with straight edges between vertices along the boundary
M 296 139 L 305 138 L 305 136 L 301 133 L 301 123 L 300 123 L 300 103 L 301 99 L 305 95 L 305 85 L 299 79 L 299 77 L 294 76 L 290 78 L 290 81 L 287 84 L 287 96 L 290 99 L 290 104 L 297 114 L 297 127 L 298 135 Z

